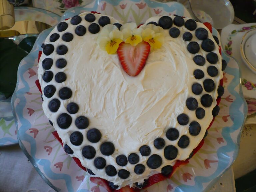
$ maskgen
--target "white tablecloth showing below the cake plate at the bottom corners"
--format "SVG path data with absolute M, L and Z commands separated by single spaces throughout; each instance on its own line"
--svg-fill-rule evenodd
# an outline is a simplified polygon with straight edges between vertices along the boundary
M 235 192 L 232 168 L 210 191 Z M 0 192 L 54 192 L 54 190 L 43 181 L 19 145 L 13 145 L 0 147 Z

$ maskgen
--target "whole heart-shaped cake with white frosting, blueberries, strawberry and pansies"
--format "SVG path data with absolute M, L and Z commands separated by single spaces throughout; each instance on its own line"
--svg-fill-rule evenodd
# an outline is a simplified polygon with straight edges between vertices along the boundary
M 180 16 L 138 27 L 89 12 L 60 22 L 45 39 L 38 77 L 66 153 L 114 189 L 169 177 L 219 112 L 218 43 Z

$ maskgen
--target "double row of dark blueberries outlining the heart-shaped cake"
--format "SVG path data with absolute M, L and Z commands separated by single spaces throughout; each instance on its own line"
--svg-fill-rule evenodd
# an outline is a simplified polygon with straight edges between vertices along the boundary
M 70 20 L 70 24 L 71 25 L 77 25 L 75 30 L 74 30 L 74 34 L 70 33 L 70 32 L 66 32 L 61 36 L 61 39 L 65 42 L 70 42 L 73 40 L 73 38 L 77 35 L 77 36 L 83 36 L 86 34 L 87 29 L 85 28 L 85 26 L 83 25 L 79 25 L 81 23 L 81 21 L 85 19 L 87 22 L 90 23 L 89 27 L 88 27 L 88 31 L 92 34 L 96 34 L 100 31 L 100 27 L 104 27 L 107 24 L 110 24 L 110 18 L 108 16 L 101 16 L 98 19 L 98 23 L 94 23 L 94 21 L 96 20 L 95 15 L 92 13 L 88 13 L 85 15 L 84 18 L 81 18 L 80 16 L 76 15 L 74 17 L 71 18 Z M 189 53 L 191 54 L 196 54 L 199 52 L 200 48 L 202 48 L 204 51 L 208 52 L 206 55 L 206 59 L 202 56 L 202 55 L 195 55 L 193 57 L 193 61 L 196 65 L 198 66 L 203 66 L 206 63 L 206 60 L 210 63 L 210 64 L 216 64 L 218 62 L 218 55 L 214 52 L 212 52 L 215 49 L 215 44 L 214 42 L 208 38 L 208 31 L 205 28 L 197 28 L 197 23 L 195 20 L 189 19 L 185 22 L 185 20 L 180 17 L 180 16 L 175 16 L 174 19 L 172 20 L 171 17 L 169 16 L 162 16 L 158 23 L 157 22 L 149 22 L 148 24 L 154 24 L 156 26 L 160 26 L 163 29 L 167 29 L 169 30 L 169 34 L 172 38 L 177 38 L 180 36 L 180 30 L 177 27 L 182 27 L 183 25 L 185 26 L 185 28 L 188 30 L 187 32 L 185 32 L 184 34 L 182 34 L 182 39 L 184 41 L 189 41 L 188 45 L 187 45 L 187 50 Z M 119 23 L 114 23 L 115 26 L 117 26 L 117 28 L 120 30 L 120 27 L 122 26 Z M 177 26 L 177 27 L 173 27 L 173 25 Z M 59 32 L 65 31 L 68 28 L 68 23 L 63 21 L 60 22 L 57 25 L 57 30 Z M 189 32 L 189 31 L 195 31 L 195 37 L 202 41 L 201 43 L 201 47 L 200 45 L 195 42 L 195 41 L 191 41 L 193 38 L 193 35 Z M 217 44 L 219 44 L 219 40 L 216 36 L 213 36 L 214 40 L 216 41 Z M 49 40 L 50 42 L 56 42 L 60 39 L 60 35 L 58 33 L 53 33 Z M 54 47 L 52 44 L 45 44 L 43 46 L 43 53 L 48 56 L 51 55 L 54 51 L 56 51 L 56 53 L 58 55 L 65 55 L 68 52 L 68 47 L 66 45 L 59 45 L 58 47 Z M 53 59 L 51 58 L 45 58 L 42 61 L 42 67 L 44 70 L 46 70 L 43 74 L 43 81 L 45 81 L 46 83 L 50 83 L 51 81 L 53 81 L 53 77 L 54 80 L 57 83 L 61 83 L 64 82 L 67 79 L 67 76 L 64 72 L 58 72 L 57 74 L 53 74 L 52 71 L 50 71 L 52 65 L 53 65 Z M 67 61 L 64 58 L 60 58 L 56 60 L 56 67 L 59 69 L 64 68 L 67 65 Z M 222 60 L 222 71 L 225 70 L 226 68 L 226 61 Z M 218 75 L 218 69 L 215 66 L 209 66 L 207 68 L 207 73 L 210 77 L 215 77 Z M 204 72 L 200 69 L 196 69 L 193 72 L 193 75 L 195 77 L 195 79 L 202 79 L 204 78 Z M 192 92 L 195 95 L 200 95 L 203 92 L 203 89 L 206 92 L 212 92 L 215 89 L 215 83 L 212 79 L 205 79 L 203 81 L 203 85 L 201 85 L 200 83 L 194 83 L 192 85 Z M 53 95 L 56 92 L 56 88 L 55 86 L 49 84 L 47 86 L 44 87 L 43 93 L 44 96 L 47 98 L 51 98 L 53 97 Z M 219 97 L 222 96 L 224 92 L 224 88 L 222 86 L 218 87 L 218 95 Z M 58 91 L 58 96 L 61 100 L 66 100 L 72 97 L 72 90 L 69 87 L 62 87 L 59 91 Z M 213 98 L 209 95 L 209 94 L 204 94 L 201 97 L 200 101 L 197 101 L 197 99 L 190 97 L 186 100 L 186 107 L 191 110 L 191 111 L 195 111 L 196 113 L 196 117 L 198 119 L 203 119 L 205 116 L 205 110 L 201 107 L 198 107 L 199 102 L 201 102 L 203 107 L 210 107 L 212 102 L 213 102 Z M 55 113 L 58 111 L 58 109 L 61 106 L 61 102 L 59 99 L 57 98 L 53 98 L 49 104 L 48 104 L 48 108 L 51 112 Z M 67 112 L 68 113 L 62 113 L 58 116 L 57 118 L 57 124 L 61 129 L 67 129 L 69 128 L 69 126 L 72 123 L 72 117 L 69 114 L 76 114 L 79 111 L 79 106 L 78 104 L 71 102 L 69 104 L 67 104 L 66 106 Z M 215 117 L 216 115 L 218 115 L 220 108 L 218 106 L 215 106 L 213 111 L 212 111 L 212 115 L 213 117 Z M 49 122 L 51 123 L 51 121 L 49 120 Z M 179 114 L 177 117 L 177 122 L 180 125 L 188 125 L 188 123 L 190 122 L 190 119 L 188 117 L 188 115 L 182 113 Z M 85 116 L 79 116 L 75 119 L 75 125 L 78 129 L 87 129 L 89 126 L 89 119 Z M 52 123 L 51 123 L 52 125 Z M 188 125 L 189 128 L 189 134 L 191 136 L 197 136 L 199 135 L 200 131 L 201 131 L 201 126 L 197 121 L 192 121 L 190 122 L 190 124 Z M 189 143 L 189 137 L 187 135 L 181 135 L 179 134 L 179 131 L 176 128 L 169 128 L 166 133 L 165 136 L 168 140 L 170 141 L 175 141 L 177 140 L 178 146 L 180 148 L 186 148 Z M 88 128 L 87 130 L 87 134 L 86 134 L 86 138 L 89 142 L 91 143 L 97 143 L 101 140 L 102 134 L 100 132 L 100 130 L 98 130 L 97 128 Z M 84 136 L 82 135 L 81 132 L 79 131 L 74 131 L 73 133 L 70 134 L 70 142 L 72 145 L 75 146 L 79 146 L 82 144 L 84 139 Z M 173 145 L 168 145 L 166 146 L 165 143 L 165 138 L 156 138 L 154 140 L 154 147 L 158 150 L 164 150 L 164 157 L 167 160 L 173 160 L 177 157 L 178 155 L 178 149 L 177 147 L 173 146 Z M 64 150 L 67 154 L 73 154 L 73 150 L 67 145 L 64 145 Z M 149 146 L 147 145 L 143 145 L 139 148 L 138 150 L 140 152 L 140 154 L 142 156 L 148 156 L 147 158 L 147 166 L 151 169 L 156 169 L 158 167 L 161 166 L 162 164 L 162 158 L 161 156 L 157 155 L 157 154 L 151 154 L 151 149 Z M 100 145 L 100 152 L 102 155 L 112 155 L 115 152 L 115 146 L 112 142 L 109 141 L 105 141 L 103 143 L 101 143 Z M 113 165 L 107 165 L 106 160 L 103 157 L 99 157 L 96 156 L 96 150 L 94 149 L 93 146 L 91 145 L 86 145 L 83 147 L 82 151 L 81 151 L 82 155 L 84 158 L 86 159 L 93 159 L 94 158 L 94 166 L 97 169 L 105 169 L 105 172 L 108 176 L 115 176 L 116 174 L 118 174 L 118 176 L 122 179 L 127 179 L 130 176 L 130 172 L 125 170 L 125 169 L 120 169 L 120 170 L 116 170 L 116 168 Z M 97 154 L 98 155 L 98 154 Z M 95 158 L 96 156 L 96 158 Z M 131 153 L 130 155 L 128 155 L 128 157 L 126 157 L 123 154 L 120 154 L 116 157 L 116 163 L 119 166 L 126 166 L 128 163 L 133 164 L 134 165 L 134 173 L 135 174 L 142 174 L 146 167 L 143 164 L 138 164 L 140 160 L 140 157 L 137 153 Z M 161 173 L 164 176 L 168 176 L 171 174 L 173 170 L 173 167 L 170 165 L 164 166 L 161 169 Z M 95 175 L 90 169 L 87 169 L 88 173 L 91 175 Z M 143 187 L 144 185 L 146 185 L 146 180 L 142 185 L 139 185 L 138 183 L 136 183 L 135 185 L 138 188 Z M 116 189 L 118 188 L 118 186 L 113 185 L 113 183 L 109 182 L 109 185 L 113 188 Z

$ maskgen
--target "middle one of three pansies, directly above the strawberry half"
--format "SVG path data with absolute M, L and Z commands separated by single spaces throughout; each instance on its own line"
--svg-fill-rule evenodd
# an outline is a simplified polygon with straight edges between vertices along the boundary
M 141 33 L 142 28 L 137 29 L 136 23 L 126 23 L 120 30 L 122 31 L 125 43 L 130 43 L 132 46 L 136 46 L 138 43 L 142 42 Z

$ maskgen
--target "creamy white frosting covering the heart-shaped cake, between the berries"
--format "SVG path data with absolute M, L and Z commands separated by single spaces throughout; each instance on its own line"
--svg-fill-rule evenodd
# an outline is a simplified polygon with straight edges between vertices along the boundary
M 219 74 L 217 77 L 212 78 L 207 73 L 207 67 L 211 66 L 211 64 L 206 61 L 204 66 L 196 65 L 193 61 L 195 55 L 187 51 L 186 47 L 189 42 L 182 39 L 183 33 L 188 31 L 185 26 L 177 27 L 181 32 L 178 38 L 170 37 L 169 30 L 164 30 L 165 41 L 162 47 L 149 54 L 146 65 L 138 76 L 131 77 L 122 69 L 116 54 L 109 55 L 99 48 L 96 43 L 99 33 L 91 34 L 88 31 L 90 23 L 84 19 L 86 14 L 82 13 L 80 15 L 82 22 L 79 24 L 84 25 L 87 29 L 84 36 L 77 36 L 74 33 L 76 26 L 70 24 L 70 20 L 67 20 L 68 28 L 65 31 L 58 32 L 57 27 L 55 27 L 45 40 L 45 44 L 51 43 L 49 41 L 50 35 L 58 33 L 60 38 L 51 44 L 54 45 L 55 50 L 58 45 L 66 45 L 68 52 L 61 56 L 54 51 L 49 56 L 42 54 L 40 58 L 38 77 L 42 90 L 49 84 L 53 84 L 56 87 L 53 97 L 46 98 L 43 95 L 43 110 L 45 115 L 53 122 L 63 143 L 68 144 L 74 151 L 74 154 L 71 155 L 72 157 L 79 158 L 82 165 L 91 169 L 96 174 L 96 177 L 111 181 L 119 187 L 132 186 L 135 182 L 142 183 L 149 176 L 161 172 L 162 167 L 174 165 L 177 159 L 185 160 L 203 139 L 205 131 L 213 119 L 212 109 L 216 105 L 217 88 L 219 80 L 222 78 L 221 55 L 218 51 L 218 45 L 215 43 L 213 52 L 219 56 L 219 61 L 214 66 L 219 70 Z M 95 14 L 95 16 L 95 23 L 98 23 L 98 18 L 101 15 Z M 174 16 L 171 17 L 174 18 Z M 152 17 L 146 23 L 150 21 L 158 22 L 159 18 Z M 111 23 L 117 22 L 117 20 L 111 18 Z M 201 23 L 197 23 L 197 27 L 206 28 Z M 74 39 L 71 42 L 61 40 L 61 36 L 65 32 L 70 32 L 74 35 Z M 195 31 L 189 32 L 193 35 L 191 41 L 196 41 L 201 45 L 202 41 L 195 37 Z M 209 30 L 208 33 L 208 38 L 213 40 Z M 207 52 L 200 48 L 198 54 L 206 58 Z M 47 57 L 53 59 L 53 66 L 50 70 L 54 75 L 63 71 L 67 75 L 66 81 L 57 83 L 53 78 L 51 82 L 46 83 L 42 80 L 44 69 L 41 62 Z M 59 69 L 55 65 L 58 58 L 67 60 L 67 66 L 63 69 Z M 200 80 L 195 79 L 193 76 L 195 69 L 201 69 L 205 77 Z M 215 81 L 215 90 L 211 93 L 203 91 L 201 95 L 193 94 L 191 91 L 192 84 L 198 82 L 202 85 L 203 80 L 207 78 Z M 49 111 L 48 103 L 53 98 L 59 98 L 58 91 L 64 86 L 71 88 L 72 97 L 67 100 L 59 99 L 61 106 L 56 113 L 52 113 Z M 200 98 L 203 94 L 210 94 L 213 97 L 214 101 L 211 107 L 205 108 L 201 105 Z M 205 109 L 206 116 L 202 120 L 196 118 L 195 111 L 187 109 L 185 102 L 188 97 L 196 98 L 199 107 Z M 66 106 L 70 102 L 77 103 L 79 111 L 70 115 L 72 117 L 71 126 L 68 129 L 61 129 L 58 127 L 56 119 L 61 113 L 68 113 Z M 189 123 L 186 126 L 179 125 L 177 116 L 181 113 L 189 116 L 189 123 L 193 120 L 200 123 L 201 132 L 198 136 L 189 134 Z M 74 123 L 76 117 L 80 115 L 88 117 L 90 121 L 89 127 L 84 130 L 79 130 Z M 187 148 L 181 149 L 178 147 L 178 139 L 170 141 L 166 138 L 165 133 L 170 127 L 177 128 L 180 137 L 182 135 L 189 137 L 190 144 Z M 86 139 L 86 133 L 90 128 L 97 128 L 102 133 L 102 138 L 98 143 L 90 143 Z M 83 143 L 80 146 L 74 146 L 70 143 L 69 135 L 73 131 L 80 131 L 84 136 Z M 154 147 L 153 142 L 157 137 L 165 139 L 165 146 L 174 145 L 177 147 L 178 156 L 176 159 L 166 160 L 164 158 L 164 150 L 158 150 Z M 115 146 L 115 152 L 111 156 L 104 156 L 99 150 L 100 144 L 104 141 L 110 141 Z M 93 164 L 94 159 L 88 160 L 82 156 L 81 151 L 85 145 L 91 145 L 95 148 L 95 157 L 104 157 L 107 165 L 113 165 L 117 171 L 120 169 L 128 170 L 130 176 L 127 179 L 121 179 L 118 175 L 110 177 L 106 175 L 105 169 L 96 169 Z M 162 165 L 159 168 L 153 170 L 146 165 L 149 156 L 141 156 L 139 153 L 139 148 L 142 145 L 150 146 L 151 155 L 158 154 L 162 157 Z M 116 164 L 115 158 L 118 155 L 124 154 L 128 157 L 130 153 L 139 155 L 139 163 L 146 167 L 143 174 L 135 174 L 135 165 L 129 162 L 124 167 Z

